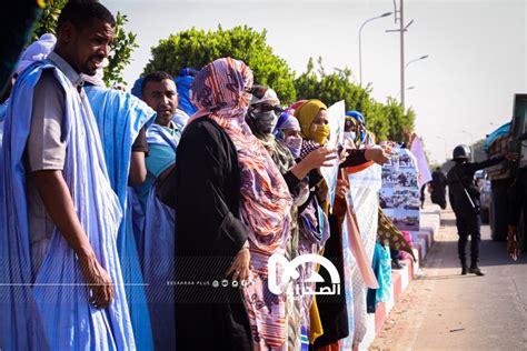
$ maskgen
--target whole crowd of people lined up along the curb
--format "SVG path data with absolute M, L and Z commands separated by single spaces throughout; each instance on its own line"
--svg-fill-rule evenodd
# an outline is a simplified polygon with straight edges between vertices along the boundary
M 269 260 L 320 254 L 350 279 L 342 231 L 360 239 L 352 213 L 361 209 L 347 174 L 385 163 L 389 144 L 376 144 L 350 111 L 342 147 L 326 147 L 322 101 L 284 107 L 233 58 L 181 68 L 176 79 L 146 74 L 131 93 L 108 89 L 102 68 L 115 31 L 102 4 L 70 1 L 57 38 L 22 54 L 2 101 L 0 348 L 360 343 L 365 328 L 351 314 L 362 311 L 350 299 L 365 300 L 366 313 L 375 277 L 368 283 L 362 273 L 352 295 L 274 294 Z M 320 169 L 335 166 L 330 189 Z M 378 205 L 368 210 L 377 225 Z M 360 272 L 371 269 L 372 248 L 369 262 L 357 254 Z M 379 278 L 389 250 L 375 250 Z M 314 271 L 299 267 L 297 282 L 320 290 Z

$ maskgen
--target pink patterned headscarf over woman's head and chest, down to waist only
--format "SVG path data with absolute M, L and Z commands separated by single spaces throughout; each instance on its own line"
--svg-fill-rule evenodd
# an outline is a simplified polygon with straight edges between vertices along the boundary
M 231 58 L 207 64 L 192 86 L 196 116 L 209 114 L 230 137 L 241 170 L 241 212 L 251 228 L 249 238 L 259 249 L 272 253 L 289 232 L 291 197 L 275 162 L 252 134 L 245 116 L 251 99 L 252 72 Z

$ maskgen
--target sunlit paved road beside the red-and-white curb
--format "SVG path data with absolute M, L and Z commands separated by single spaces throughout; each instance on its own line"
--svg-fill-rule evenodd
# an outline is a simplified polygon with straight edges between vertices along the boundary
M 455 217 L 443 212 L 425 277 L 401 294 L 370 350 L 527 350 L 527 257 L 513 262 L 488 225 L 481 233 L 487 275 L 460 275 Z

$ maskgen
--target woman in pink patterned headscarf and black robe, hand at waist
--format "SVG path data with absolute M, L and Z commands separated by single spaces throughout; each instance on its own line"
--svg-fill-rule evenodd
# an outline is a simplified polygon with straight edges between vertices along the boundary
M 198 112 L 177 151 L 179 350 L 267 349 L 285 342 L 284 297 L 269 292 L 267 263 L 285 251 L 292 200 L 245 121 L 251 87 L 250 69 L 230 58 L 209 63 L 193 82 Z M 249 279 L 252 283 L 245 284 Z

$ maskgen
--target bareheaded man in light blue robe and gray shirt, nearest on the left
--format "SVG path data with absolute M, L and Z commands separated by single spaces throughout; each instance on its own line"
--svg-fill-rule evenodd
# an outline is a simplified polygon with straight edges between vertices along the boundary
M 122 211 L 81 89 L 116 21 L 70 1 L 58 42 L 11 92 L 0 171 L 0 349 L 136 350 L 116 237 Z

